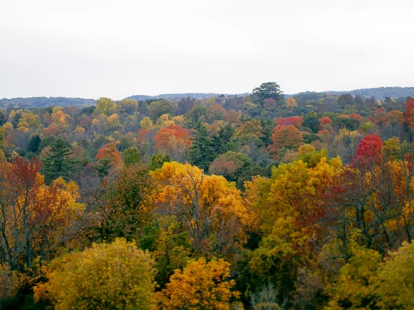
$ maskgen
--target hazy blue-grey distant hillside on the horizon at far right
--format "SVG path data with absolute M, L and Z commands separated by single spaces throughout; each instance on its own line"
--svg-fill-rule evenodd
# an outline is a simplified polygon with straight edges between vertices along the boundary
M 324 92 L 326 94 L 333 94 L 339 96 L 340 94 L 361 94 L 362 96 L 369 98 L 374 96 L 377 100 L 385 99 L 385 97 L 399 98 L 399 97 L 414 97 L 414 87 L 376 87 L 376 88 L 362 88 L 360 90 L 350 90 L 337 92 L 335 90 Z

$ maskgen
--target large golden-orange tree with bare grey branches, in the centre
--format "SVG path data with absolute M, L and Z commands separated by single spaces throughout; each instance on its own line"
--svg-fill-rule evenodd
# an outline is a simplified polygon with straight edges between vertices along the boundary
M 248 211 L 234 183 L 176 162 L 164 163 L 152 176 L 155 211 L 177 216 L 196 251 L 226 255 L 245 242 Z

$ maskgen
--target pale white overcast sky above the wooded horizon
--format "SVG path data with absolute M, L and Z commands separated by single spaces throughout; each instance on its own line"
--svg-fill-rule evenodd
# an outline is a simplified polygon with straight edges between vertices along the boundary
M 414 1 L 0 0 L 0 98 L 414 86 Z

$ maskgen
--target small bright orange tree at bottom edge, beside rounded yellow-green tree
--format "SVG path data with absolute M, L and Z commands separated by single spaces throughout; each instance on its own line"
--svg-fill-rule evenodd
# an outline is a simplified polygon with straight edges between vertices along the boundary
M 230 264 L 225 260 L 193 260 L 183 271 L 177 269 L 157 294 L 159 309 L 234 309 L 240 293 L 231 291 L 235 281 L 227 280 L 229 276 Z

